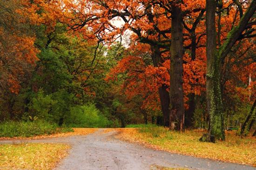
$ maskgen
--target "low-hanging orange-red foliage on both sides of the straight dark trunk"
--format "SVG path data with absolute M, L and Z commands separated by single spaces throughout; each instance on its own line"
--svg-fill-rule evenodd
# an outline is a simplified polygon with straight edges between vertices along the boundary
M 201 95 L 202 91 L 205 91 L 206 59 L 202 55 L 195 61 L 191 61 L 189 55 L 185 54 L 184 60 L 186 63 L 183 64 L 183 88 L 186 102 L 188 101 L 186 95 L 190 93 Z M 141 57 L 128 56 L 117 63 L 106 80 L 116 81 L 123 78 L 121 89 L 128 99 L 140 95 L 144 98 L 142 107 L 159 109 L 158 88 L 162 84 L 170 85 L 169 68 L 170 60 L 166 60 L 160 67 L 154 67 L 146 65 Z

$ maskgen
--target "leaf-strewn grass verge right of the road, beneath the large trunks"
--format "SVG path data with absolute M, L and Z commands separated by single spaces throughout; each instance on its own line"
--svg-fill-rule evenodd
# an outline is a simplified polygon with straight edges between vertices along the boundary
M 170 132 L 159 126 L 118 129 L 118 138 L 138 142 L 156 150 L 170 151 L 195 157 L 256 166 L 256 138 L 241 139 L 235 133 L 226 132 L 225 141 L 200 142 L 203 131 L 190 130 L 184 133 Z

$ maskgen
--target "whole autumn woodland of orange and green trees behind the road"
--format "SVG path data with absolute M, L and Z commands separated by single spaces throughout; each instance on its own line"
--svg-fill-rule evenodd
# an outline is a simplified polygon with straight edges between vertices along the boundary
M 130 124 L 256 136 L 255 11 L 256 0 L 0 0 L 0 137 Z

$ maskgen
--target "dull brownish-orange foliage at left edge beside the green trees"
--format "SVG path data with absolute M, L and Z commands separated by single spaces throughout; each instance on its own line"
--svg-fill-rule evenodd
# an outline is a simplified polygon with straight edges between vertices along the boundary
M 0 25 L 0 91 L 9 89 L 15 94 L 19 92 L 20 80 L 26 71 L 38 60 L 39 52 L 34 47 L 35 37 L 30 30 L 29 17 L 23 15 L 25 2 L 17 0 L 1 4 L 6 17 L 0 19 L 3 23 Z

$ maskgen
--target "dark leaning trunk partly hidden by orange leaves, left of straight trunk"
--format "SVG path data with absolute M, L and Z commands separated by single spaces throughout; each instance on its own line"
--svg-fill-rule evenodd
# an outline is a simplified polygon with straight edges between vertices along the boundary
M 161 64 L 164 62 L 161 57 L 161 52 L 159 47 L 151 45 L 151 51 L 152 51 L 152 60 L 155 67 L 161 66 Z M 161 87 L 158 88 L 162 113 L 163 113 L 163 125 L 169 126 L 169 105 L 170 105 L 170 96 L 168 94 L 168 91 L 166 90 L 168 87 L 166 84 L 162 84 Z

